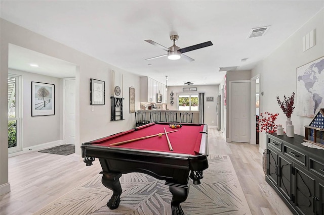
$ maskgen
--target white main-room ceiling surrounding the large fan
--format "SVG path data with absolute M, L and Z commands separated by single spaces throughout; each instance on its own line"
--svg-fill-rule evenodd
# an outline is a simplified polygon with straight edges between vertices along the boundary
M 253 69 L 322 8 L 324 1 L 1 1 L 0 14 L 126 71 L 161 83 L 168 75 L 168 85 L 177 86 L 219 84 L 225 73 L 220 67 Z M 264 36 L 247 38 L 263 26 L 271 26 Z M 170 47 L 172 34 L 179 35 L 180 48 L 210 40 L 214 45 L 186 52 L 191 63 L 144 60 L 166 53 L 144 40 Z

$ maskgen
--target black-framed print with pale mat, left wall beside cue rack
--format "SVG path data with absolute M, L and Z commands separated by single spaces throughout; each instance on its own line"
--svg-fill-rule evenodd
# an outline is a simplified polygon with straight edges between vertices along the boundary
M 90 79 L 90 104 L 105 104 L 105 82 L 96 79 Z

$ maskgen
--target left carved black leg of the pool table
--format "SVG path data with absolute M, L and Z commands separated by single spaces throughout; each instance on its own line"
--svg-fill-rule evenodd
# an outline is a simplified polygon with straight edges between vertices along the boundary
M 121 173 L 119 174 L 110 174 L 110 173 L 103 173 L 101 182 L 102 184 L 107 187 L 108 189 L 113 191 L 112 196 L 110 197 L 109 201 L 107 202 L 107 206 L 109 209 L 113 210 L 119 206 L 120 203 L 120 195 L 121 195 L 121 186 L 119 182 L 119 178 Z

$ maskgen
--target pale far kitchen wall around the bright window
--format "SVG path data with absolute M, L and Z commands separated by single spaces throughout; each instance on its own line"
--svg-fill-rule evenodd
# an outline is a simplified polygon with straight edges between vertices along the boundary
M 181 93 L 187 93 L 183 92 L 182 88 L 188 87 L 188 86 L 169 86 L 168 87 L 168 109 L 169 110 L 177 110 L 177 94 Z M 189 86 L 191 87 L 191 86 Z M 209 126 L 216 126 L 217 120 L 216 120 L 216 97 L 219 95 L 219 85 L 194 85 L 192 87 L 196 87 L 197 91 L 188 92 L 190 93 L 198 93 L 198 92 L 205 92 L 205 114 L 204 114 L 204 123 Z M 170 93 L 173 91 L 174 93 L 174 104 L 170 104 Z M 213 96 L 214 101 L 207 101 L 207 96 Z M 214 122 L 213 122 L 214 121 Z

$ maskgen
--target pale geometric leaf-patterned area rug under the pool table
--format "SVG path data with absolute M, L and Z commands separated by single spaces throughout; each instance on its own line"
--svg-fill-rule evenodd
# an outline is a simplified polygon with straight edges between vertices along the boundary
M 251 214 L 229 156 L 210 154 L 208 164 L 201 184 L 189 179 L 189 195 L 181 203 L 184 213 Z M 112 191 L 102 185 L 101 177 L 98 174 L 35 214 L 171 214 L 172 194 L 165 181 L 142 173 L 123 174 L 119 207 L 110 210 L 106 203 Z

